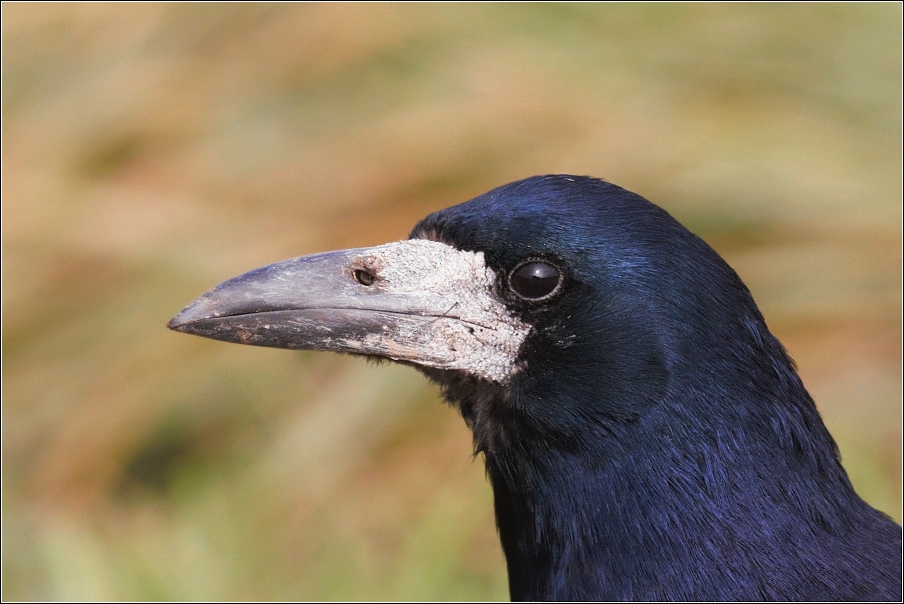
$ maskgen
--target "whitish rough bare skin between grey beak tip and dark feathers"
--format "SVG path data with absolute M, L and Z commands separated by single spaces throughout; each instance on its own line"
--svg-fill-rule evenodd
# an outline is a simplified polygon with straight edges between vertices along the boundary
M 396 320 L 383 332 L 367 334 L 358 342 L 362 350 L 497 383 L 509 381 L 530 326 L 495 295 L 496 274 L 482 252 L 420 239 L 360 251 L 349 266 L 359 283 L 375 295 L 398 300 L 397 312 L 420 317 Z M 422 317 L 433 318 L 425 322 Z

